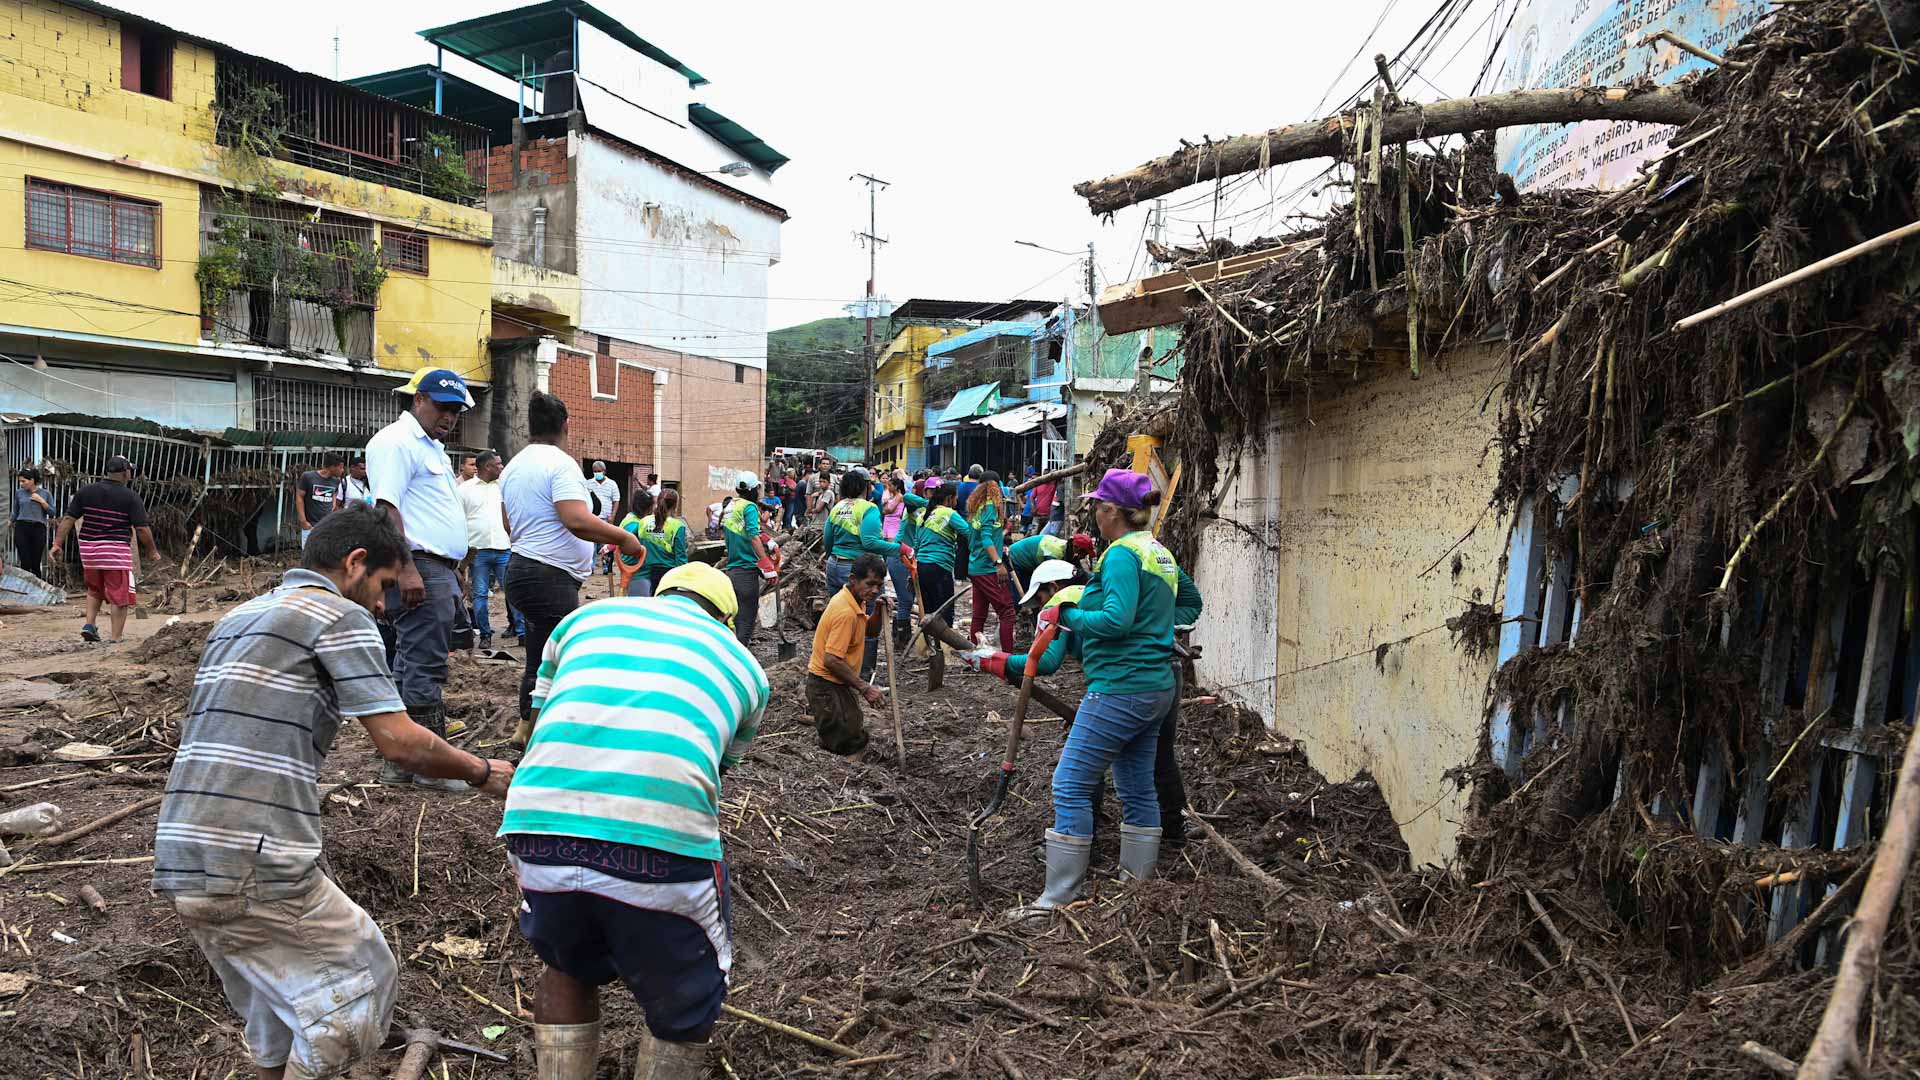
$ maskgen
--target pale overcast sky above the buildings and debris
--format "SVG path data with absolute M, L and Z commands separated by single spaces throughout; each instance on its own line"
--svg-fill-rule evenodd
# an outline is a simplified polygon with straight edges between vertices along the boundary
M 342 77 L 430 63 L 432 46 L 415 31 L 518 6 L 119 2 L 321 75 L 334 73 L 338 25 Z M 1127 169 L 1181 138 L 1311 119 L 1361 85 L 1375 52 L 1398 54 L 1438 4 L 597 0 L 712 79 L 703 88 L 708 104 L 793 158 L 774 177 L 793 219 L 772 273 L 772 327 L 837 315 L 862 292 L 866 250 L 854 234 L 866 229 L 866 188 L 852 173 L 893 184 L 879 194 L 879 234 L 891 240 L 879 252 L 879 292 L 895 302 L 1085 296 L 1077 256 L 1016 240 L 1066 252 L 1092 240 L 1100 284 L 1127 281 L 1144 267 L 1142 211 L 1096 221 L 1073 196 L 1075 181 Z M 1409 96 L 1465 94 L 1509 12 L 1509 0 L 1465 4 L 1423 67 L 1438 90 L 1417 83 Z M 1363 56 L 1340 77 L 1356 50 Z M 1271 190 L 1261 181 L 1235 184 L 1221 200 L 1219 233 L 1246 240 L 1286 229 L 1290 204 L 1269 209 L 1269 198 L 1294 192 L 1321 165 L 1275 171 Z M 1212 184 L 1167 202 L 1169 240 L 1192 242 L 1196 227 L 1213 233 Z

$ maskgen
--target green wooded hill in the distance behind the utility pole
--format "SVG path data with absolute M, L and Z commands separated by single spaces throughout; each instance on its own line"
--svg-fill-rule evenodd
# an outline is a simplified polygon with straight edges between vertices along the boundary
M 864 319 L 814 319 L 766 334 L 768 450 L 860 442 L 864 348 Z

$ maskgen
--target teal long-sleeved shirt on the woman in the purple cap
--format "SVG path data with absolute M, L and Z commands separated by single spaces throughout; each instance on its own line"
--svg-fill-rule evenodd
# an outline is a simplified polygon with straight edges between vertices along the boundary
M 1173 688 L 1173 601 L 1179 563 L 1148 532 L 1108 544 L 1079 605 L 1060 623 L 1079 638 L 1092 694 L 1156 694 Z

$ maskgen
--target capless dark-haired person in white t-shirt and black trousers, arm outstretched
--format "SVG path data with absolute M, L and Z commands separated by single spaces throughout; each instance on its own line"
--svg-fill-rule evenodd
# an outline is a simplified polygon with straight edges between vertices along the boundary
M 588 480 L 566 452 L 566 402 L 536 392 L 526 404 L 526 450 L 513 455 L 499 479 L 507 532 L 513 536 L 507 603 L 526 621 L 515 746 L 526 746 L 534 734 L 540 655 L 561 619 L 580 607 L 580 586 L 593 577 L 593 548 L 611 544 L 626 555 L 641 553 L 639 536 L 601 521 L 591 509 Z M 605 475 L 605 467 L 595 465 Z

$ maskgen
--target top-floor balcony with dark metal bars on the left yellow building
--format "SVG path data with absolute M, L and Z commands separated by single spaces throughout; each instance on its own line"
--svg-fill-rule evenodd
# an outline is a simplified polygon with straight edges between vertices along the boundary
M 292 67 L 221 54 L 213 108 L 221 146 L 342 177 L 484 206 L 467 169 L 486 160 L 488 131 Z

